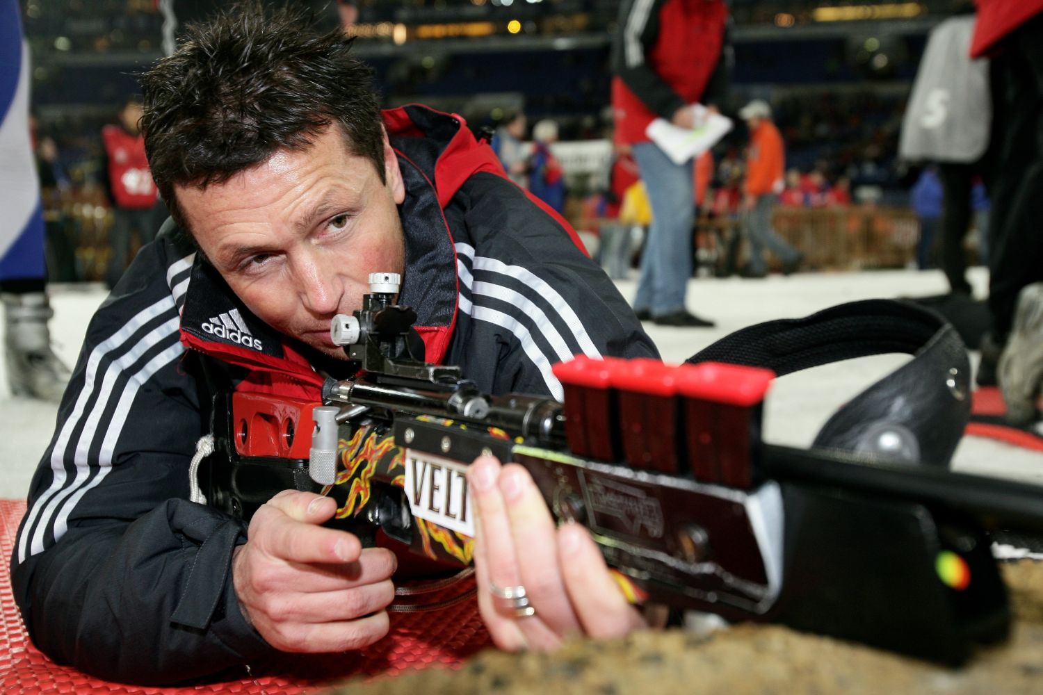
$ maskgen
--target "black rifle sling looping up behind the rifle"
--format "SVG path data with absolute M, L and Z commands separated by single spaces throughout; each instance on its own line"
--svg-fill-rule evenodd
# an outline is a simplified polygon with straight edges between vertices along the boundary
M 970 364 L 952 326 L 923 306 L 869 299 L 767 321 L 722 338 L 687 362 L 763 367 L 783 376 L 891 352 L 914 357 L 839 408 L 812 446 L 948 466 L 970 418 Z

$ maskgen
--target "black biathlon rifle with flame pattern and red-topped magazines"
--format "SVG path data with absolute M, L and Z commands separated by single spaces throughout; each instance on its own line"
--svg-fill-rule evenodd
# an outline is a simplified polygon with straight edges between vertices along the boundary
M 339 495 L 335 523 L 364 544 L 462 568 L 465 472 L 489 453 L 589 529 L 636 601 L 948 664 L 1008 634 L 988 531 L 1043 530 L 1043 489 L 765 443 L 774 374 L 755 367 L 578 357 L 554 367 L 563 402 L 484 394 L 423 361 L 396 275 L 370 282 L 332 326 L 358 373 L 328 379 L 322 403 L 217 399 L 197 476 L 208 503 L 248 519 L 287 488 Z

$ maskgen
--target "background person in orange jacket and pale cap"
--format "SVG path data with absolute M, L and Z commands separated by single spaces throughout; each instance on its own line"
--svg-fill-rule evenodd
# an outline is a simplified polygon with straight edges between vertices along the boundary
M 772 123 L 771 106 L 762 99 L 748 103 L 739 109 L 738 116 L 750 128 L 742 223 L 750 242 L 750 257 L 743 275 L 765 277 L 768 274 L 766 246 L 782 262 L 782 273 L 789 275 L 800 267 L 803 255 L 772 228 L 772 210 L 783 188 L 782 135 Z

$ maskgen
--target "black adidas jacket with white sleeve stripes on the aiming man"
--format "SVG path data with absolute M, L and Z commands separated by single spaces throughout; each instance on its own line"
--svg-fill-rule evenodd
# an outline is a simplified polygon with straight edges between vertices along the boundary
M 401 302 L 417 311 L 429 358 L 492 393 L 560 396 L 550 366 L 572 354 L 656 355 L 575 232 L 506 179 L 458 119 L 408 106 L 385 123 L 407 185 Z M 229 330 L 213 330 L 215 320 Z M 91 320 L 11 559 L 37 646 L 113 680 L 180 681 L 272 650 L 243 619 L 228 571 L 245 524 L 188 501 L 208 429 L 195 366 L 213 357 L 183 343 L 208 343 L 246 365 L 229 367 L 240 374 L 293 347 L 173 230 L 141 251 Z

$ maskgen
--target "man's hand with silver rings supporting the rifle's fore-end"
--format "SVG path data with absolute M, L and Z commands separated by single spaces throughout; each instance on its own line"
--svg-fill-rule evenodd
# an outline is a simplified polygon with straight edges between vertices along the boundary
M 578 524 L 555 527 L 528 471 L 480 456 L 467 479 L 478 511 L 478 604 L 500 648 L 548 650 L 573 635 L 611 638 L 647 627 L 586 529 Z M 535 614 L 504 612 L 491 585 L 525 587 Z

